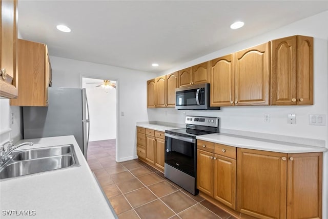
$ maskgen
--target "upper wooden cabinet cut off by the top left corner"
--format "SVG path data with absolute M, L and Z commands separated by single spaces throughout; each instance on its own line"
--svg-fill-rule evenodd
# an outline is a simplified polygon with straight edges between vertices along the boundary
M 17 1 L 0 1 L 0 96 L 15 98 L 18 95 L 17 76 Z

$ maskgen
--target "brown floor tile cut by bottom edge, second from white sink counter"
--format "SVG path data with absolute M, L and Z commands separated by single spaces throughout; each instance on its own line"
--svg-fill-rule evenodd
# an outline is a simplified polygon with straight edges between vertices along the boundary
M 167 219 L 175 214 L 160 200 L 155 200 L 134 210 L 142 219 Z

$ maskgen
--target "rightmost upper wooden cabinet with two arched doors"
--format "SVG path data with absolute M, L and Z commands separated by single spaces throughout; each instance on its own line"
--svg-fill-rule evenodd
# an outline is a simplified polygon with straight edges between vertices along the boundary
M 313 105 L 313 37 L 271 42 L 271 105 Z

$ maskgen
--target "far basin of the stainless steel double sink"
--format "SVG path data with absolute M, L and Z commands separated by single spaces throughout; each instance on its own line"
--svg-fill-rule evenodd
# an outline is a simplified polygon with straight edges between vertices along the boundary
M 48 147 L 48 148 L 39 148 L 39 149 L 29 149 L 21 152 L 13 153 L 13 161 L 26 161 L 35 158 L 42 158 L 48 156 L 57 156 L 69 154 L 72 152 L 72 148 L 70 145 L 61 145 L 56 147 Z

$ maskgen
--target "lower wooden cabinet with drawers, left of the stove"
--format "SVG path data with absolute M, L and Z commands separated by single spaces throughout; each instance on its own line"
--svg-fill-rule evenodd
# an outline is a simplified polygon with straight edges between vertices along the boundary
M 147 164 L 164 171 L 165 133 L 137 127 L 137 155 Z

